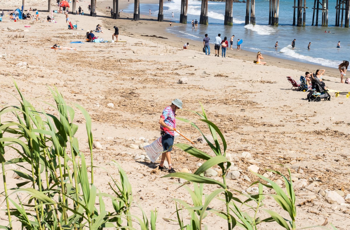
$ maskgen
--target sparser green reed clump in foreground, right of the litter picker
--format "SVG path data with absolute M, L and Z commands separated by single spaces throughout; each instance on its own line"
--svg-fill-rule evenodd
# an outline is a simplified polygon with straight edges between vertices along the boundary
M 291 179 L 287 179 L 287 177 L 283 176 L 280 172 L 273 171 L 271 172 L 276 173 L 283 177 L 286 184 L 286 190 L 287 194 L 283 192 L 283 190 L 272 180 L 269 180 L 268 178 L 254 173 L 254 175 L 260 177 L 262 180 L 265 180 L 268 183 L 263 183 L 260 181 L 254 182 L 251 184 L 257 184 L 258 183 L 258 194 L 242 194 L 241 192 L 237 191 L 240 196 L 245 196 L 245 200 L 240 200 L 240 198 L 233 196 L 232 192 L 229 190 L 227 184 L 226 184 L 226 173 L 228 172 L 229 167 L 231 166 L 231 163 L 225 158 L 226 156 L 226 141 L 223 137 L 223 134 L 219 130 L 219 128 L 208 120 L 205 111 L 202 106 L 202 113 L 192 111 L 195 114 L 197 114 L 201 119 L 200 121 L 203 121 L 208 125 L 208 128 L 210 130 L 212 139 L 214 140 L 213 143 L 211 143 L 207 137 L 203 134 L 203 132 L 198 128 L 198 126 L 193 123 L 190 120 L 178 118 L 179 120 L 182 120 L 184 122 L 187 122 L 191 124 L 193 127 L 195 127 L 200 133 L 202 134 L 203 138 L 207 141 L 208 145 L 210 146 L 212 152 L 215 154 L 215 156 L 211 156 L 200 149 L 197 149 L 193 146 L 179 143 L 175 144 L 174 146 L 179 147 L 181 150 L 189 153 L 190 155 L 193 155 L 197 158 L 205 160 L 203 165 L 201 165 L 194 174 L 190 173 L 172 173 L 165 175 L 163 177 L 180 177 L 182 179 L 185 179 L 189 182 L 194 183 L 194 191 L 189 189 L 186 185 L 184 188 L 186 188 L 189 191 L 189 194 L 191 195 L 193 206 L 187 204 L 186 202 L 174 199 L 176 202 L 176 215 L 177 215 L 177 222 L 180 225 L 181 229 L 202 229 L 202 227 L 207 228 L 207 226 L 203 225 L 202 220 L 207 215 L 207 211 L 210 211 L 223 219 L 225 219 L 228 223 L 228 229 L 233 229 L 235 226 L 239 226 L 240 228 L 247 229 L 247 230 L 257 230 L 258 224 L 260 223 L 268 223 L 268 222 L 276 222 L 280 226 L 282 226 L 285 229 L 296 229 L 295 224 L 295 217 L 296 217 L 296 207 L 295 207 L 295 194 L 293 189 L 293 183 Z M 220 145 L 220 142 L 222 144 L 222 147 Z M 222 182 L 216 181 L 207 177 L 203 176 L 203 173 L 211 168 L 212 166 L 218 165 L 222 170 Z M 290 171 L 289 172 L 289 178 L 290 178 Z M 199 187 L 198 184 L 199 183 Z M 203 194 L 203 184 L 216 184 L 220 186 L 220 189 L 217 189 L 213 191 L 209 195 Z M 290 220 L 287 220 L 283 218 L 278 213 L 269 210 L 269 209 L 263 209 L 264 206 L 263 200 L 265 199 L 265 194 L 262 193 L 263 187 L 272 188 L 276 194 L 268 194 L 272 196 L 276 203 L 279 204 L 284 210 L 286 210 L 289 214 Z M 199 190 L 198 190 L 199 188 Z M 199 191 L 199 192 L 198 192 Z M 221 198 L 221 195 L 224 195 L 224 198 Z M 203 195 L 205 195 L 205 201 L 202 204 L 202 198 Z M 219 200 L 222 200 L 226 206 L 226 210 L 216 210 L 210 207 L 210 203 L 214 198 L 219 198 Z M 255 202 L 255 205 L 251 205 L 251 202 Z M 177 203 L 182 205 L 183 208 L 180 208 L 177 206 Z M 258 216 L 258 210 L 262 209 L 264 210 L 270 217 L 261 219 Z M 183 222 L 182 218 L 182 211 L 187 210 L 190 214 L 190 223 L 186 224 Z M 251 213 L 254 215 L 251 216 Z M 314 226 L 311 226 L 314 227 Z M 307 228 L 311 228 L 307 227 Z

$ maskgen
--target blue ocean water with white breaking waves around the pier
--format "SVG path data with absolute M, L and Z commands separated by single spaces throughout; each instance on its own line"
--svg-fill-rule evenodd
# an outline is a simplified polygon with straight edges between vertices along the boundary
M 158 3 L 140 4 L 140 18 L 149 14 L 151 9 L 155 19 L 158 16 Z M 293 26 L 293 5 L 292 0 L 280 0 L 279 26 L 268 25 L 269 1 L 255 0 L 255 22 L 256 25 L 245 24 L 245 3 L 233 3 L 233 26 L 224 26 L 225 2 L 208 3 L 209 25 L 198 25 L 197 29 L 192 29 L 191 21 L 197 19 L 199 22 L 201 13 L 201 1 L 189 0 L 187 12 L 187 24 L 172 26 L 167 28 L 167 32 L 178 37 L 183 37 L 195 41 L 203 41 L 204 34 L 208 34 L 211 43 L 214 43 L 218 33 L 223 39 L 228 40 L 235 35 L 233 48 L 237 48 L 237 39 L 243 39 L 241 48 L 248 51 L 261 51 L 262 54 L 294 60 L 303 63 L 319 64 L 326 67 L 337 68 L 342 60 L 349 60 L 350 51 L 350 30 L 344 27 L 335 27 L 335 5 L 336 0 L 329 0 L 328 27 L 311 26 L 313 16 L 314 1 L 307 0 L 306 7 L 306 27 Z M 181 0 L 164 1 L 164 20 L 173 22 L 180 21 Z M 125 12 L 133 13 L 134 5 L 131 4 Z M 174 12 L 174 18 L 172 18 Z M 316 18 L 316 14 L 315 14 Z M 315 19 L 316 21 L 316 19 Z M 318 25 L 321 25 L 321 13 L 319 13 Z M 343 20 L 345 21 L 345 19 Z M 324 31 L 327 30 L 327 33 Z M 328 33 L 330 31 L 330 33 Z M 296 39 L 295 48 L 291 43 Z M 278 41 L 278 48 L 274 47 Z M 341 48 L 336 48 L 338 41 L 341 41 Z M 307 46 L 311 42 L 311 49 Z

